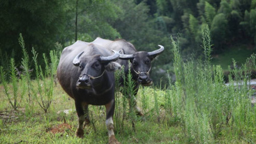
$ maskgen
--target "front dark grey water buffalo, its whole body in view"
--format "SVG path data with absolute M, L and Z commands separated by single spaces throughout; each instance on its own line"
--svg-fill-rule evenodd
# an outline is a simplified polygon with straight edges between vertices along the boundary
M 119 143 L 115 139 L 114 114 L 114 70 L 120 69 L 116 61 L 119 53 L 101 46 L 77 41 L 66 47 L 61 54 L 57 77 L 62 88 L 75 100 L 78 115 L 77 137 L 83 137 L 83 122 L 90 122 L 88 105 L 105 105 L 106 126 L 109 143 Z

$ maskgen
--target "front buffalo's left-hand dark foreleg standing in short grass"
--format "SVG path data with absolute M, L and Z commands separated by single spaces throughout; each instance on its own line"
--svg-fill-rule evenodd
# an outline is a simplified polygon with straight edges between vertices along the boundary
M 79 138 L 83 138 L 83 122 L 85 121 L 85 114 L 83 112 L 83 106 L 81 102 L 75 102 L 75 109 L 77 110 L 78 116 L 78 127 L 75 135 Z

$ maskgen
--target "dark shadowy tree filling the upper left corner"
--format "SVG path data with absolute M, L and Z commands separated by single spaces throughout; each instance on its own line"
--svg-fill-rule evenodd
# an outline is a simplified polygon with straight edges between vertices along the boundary
M 39 53 L 47 53 L 57 41 L 63 42 L 66 1 L 1 1 L 0 47 L 3 51 L 14 50 L 21 58 L 18 44 L 22 33 L 28 51 L 34 46 Z

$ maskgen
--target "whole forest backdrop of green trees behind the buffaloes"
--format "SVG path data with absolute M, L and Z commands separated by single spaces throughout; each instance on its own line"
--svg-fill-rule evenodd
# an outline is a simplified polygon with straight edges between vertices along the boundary
M 9 57 L 21 61 L 20 33 L 29 55 L 33 47 L 49 54 L 61 51 L 55 45 L 97 37 L 126 39 L 140 51 L 163 45 L 152 74 L 163 83 L 166 72 L 173 73 L 171 37 L 178 39 L 183 59 L 203 58 L 201 35 L 207 25 L 213 55 L 236 45 L 255 51 L 256 0 L 6 0 L 0 1 L 0 11 L 0 64 L 5 69 Z M 38 59 L 43 63 L 42 55 Z

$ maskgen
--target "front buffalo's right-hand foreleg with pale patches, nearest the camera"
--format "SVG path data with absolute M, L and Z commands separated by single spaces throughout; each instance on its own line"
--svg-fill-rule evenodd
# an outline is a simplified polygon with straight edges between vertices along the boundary
M 106 126 L 107 131 L 109 133 L 109 143 L 110 144 L 120 144 L 117 139 L 115 139 L 114 134 L 114 122 L 113 122 L 113 115 L 115 109 L 115 102 L 114 99 L 105 105 L 106 107 Z

